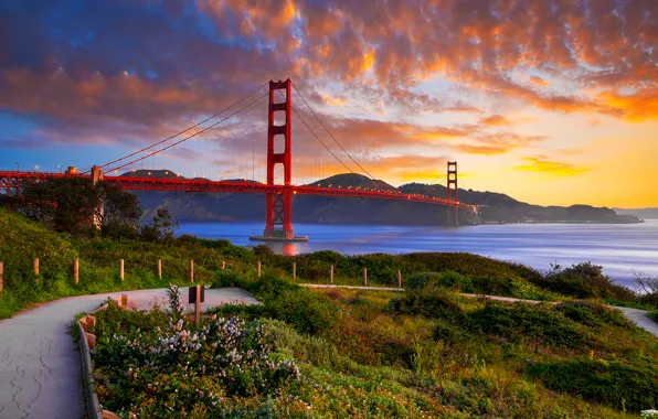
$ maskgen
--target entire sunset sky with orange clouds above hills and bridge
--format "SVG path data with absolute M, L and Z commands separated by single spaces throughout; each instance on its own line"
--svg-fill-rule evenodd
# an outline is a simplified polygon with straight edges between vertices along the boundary
M 0 170 L 105 164 L 289 77 L 295 183 L 455 160 L 460 187 L 658 206 L 657 45 L 655 0 L 3 0 Z M 264 180 L 266 132 L 264 97 L 107 169 Z

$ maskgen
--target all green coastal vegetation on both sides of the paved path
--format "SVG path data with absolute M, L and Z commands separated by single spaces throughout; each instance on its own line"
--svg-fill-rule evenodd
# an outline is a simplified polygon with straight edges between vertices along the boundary
M 126 417 L 615 418 L 658 404 L 658 341 L 601 304 L 657 310 L 656 296 L 619 287 L 592 264 L 543 273 L 470 254 L 288 257 L 176 237 L 174 227 L 160 212 L 120 235 L 57 233 L 0 210 L 0 318 L 65 296 L 182 286 L 190 260 L 197 282 L 258 298 L 259 305 L 214 308 L 200 326 L 180 304 L 99 313 L 97 390 L 104 406 Z M 311 283 L 326 283 L 331 266 L 335 282 L 344 284 L 362 284 L 365 268 L 369 284 L 396 287 L 401 271 L 407 292 L 311 290 L 293 282 L 293 262 L 297 281 Z

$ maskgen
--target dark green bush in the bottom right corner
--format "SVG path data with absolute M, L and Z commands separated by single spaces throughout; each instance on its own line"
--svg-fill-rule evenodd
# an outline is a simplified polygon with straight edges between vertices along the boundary
M 577 357 L 531 364 L 528 375 L 553 390 L 616 409 L 639 412 L 658 406 L 658 366 L 649 357 Z

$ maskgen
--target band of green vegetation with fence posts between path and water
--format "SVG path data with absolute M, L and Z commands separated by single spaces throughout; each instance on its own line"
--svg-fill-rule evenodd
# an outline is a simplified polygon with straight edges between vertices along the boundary
M 222 239 L 176 237 L 174 228 L 169 214 L 160 211 L 150 224 L 105 229 L 96 237 L 53 232 L 42 223 L 0 208 L 0 261 L 4 264 L 0 319 L 32 303 L 61 297 L 185 283 L 190 260 L 194 260 L 194 275 L 200 282 L 212 281 L 222 262 L 227 272 L 240 275 L 253 273 L 255 264 L 261 261 L 265 269 L 287 278 L 291 277 L 295 262 L 297 280 L 309 283 L 327 283 L 333 266 L 337 284 L 363 284 L 367 269 L 369 284 L 397 287 L 400 271 L 403 287 L 412 290 L 449 289 L 542 301 L 586 299 L 649 311 L 658 308 L 655 290 L 636 292 L 622 287 L 603 275 L 601 267 L 588 262 L 553 266 L 544 273 L 520 264 L 465 253 L 347 256 L 325 250 L 283 256 L 266 246 L 245 248 Z M 39 277 L 32 270 L 33 258 L 40 258 Z M 73 281 L 75 258 L 79 259 L 78 283 Z M 119 259 L 126 267 L 123 281 L 118 275 Z M 158 259 L 162 262 L 162 278 L 157 276 Z M 644 283 L 655 281 L 645 278 Z

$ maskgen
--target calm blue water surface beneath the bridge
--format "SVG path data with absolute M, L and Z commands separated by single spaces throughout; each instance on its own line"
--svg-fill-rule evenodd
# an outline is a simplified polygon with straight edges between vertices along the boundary
M 278 254 L 331 249 L 341 254 L 469 251 L 548 270 L 592 261 L 617 281 L 630 284 L 633 270 L 658 277 L 658 221 L 645 224 L 505 224 L 459 228 L 295 224 L 310 241 L 268 244 Z M 180 234 L 253 244 L 263 223 L 181 223 Z

